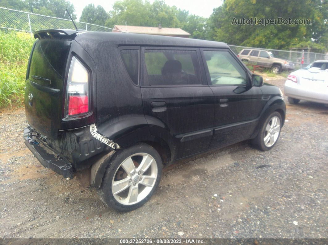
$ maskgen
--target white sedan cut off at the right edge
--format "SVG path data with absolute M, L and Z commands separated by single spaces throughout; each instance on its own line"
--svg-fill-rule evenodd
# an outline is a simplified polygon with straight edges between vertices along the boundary
M 301 99 L 328 104 L 328 60 L 315 61 L 288 75 L 284 88 L 288 102 Z

